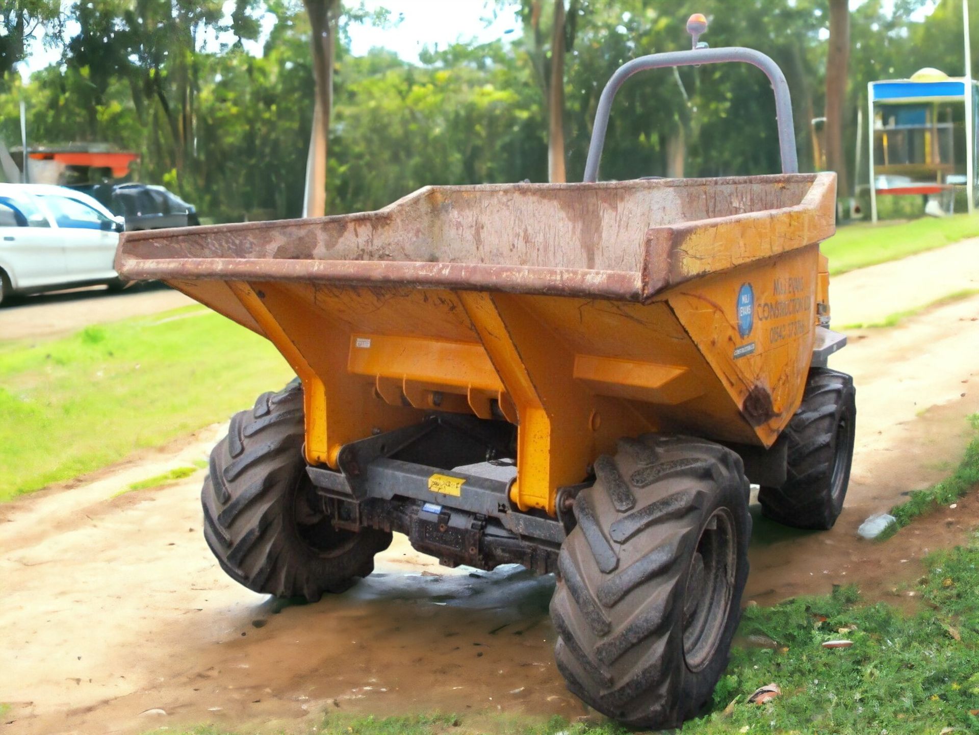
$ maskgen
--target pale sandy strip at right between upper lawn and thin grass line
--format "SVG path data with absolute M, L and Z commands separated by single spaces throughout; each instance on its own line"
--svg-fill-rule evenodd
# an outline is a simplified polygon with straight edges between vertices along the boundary
M 891 314 L 950 294 L 979 290 L 979 238 L 835 276 L 833 323 L 878 324 Z

